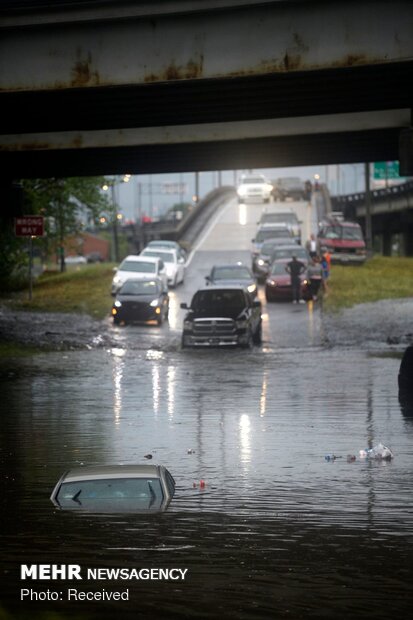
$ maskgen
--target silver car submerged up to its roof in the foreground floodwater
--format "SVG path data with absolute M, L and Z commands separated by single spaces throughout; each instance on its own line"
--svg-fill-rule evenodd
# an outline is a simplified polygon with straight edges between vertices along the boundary
M 102 465 L 66 471 L 50 496 L 61 510 L 162 512 L 175 493 L 163 465 Z

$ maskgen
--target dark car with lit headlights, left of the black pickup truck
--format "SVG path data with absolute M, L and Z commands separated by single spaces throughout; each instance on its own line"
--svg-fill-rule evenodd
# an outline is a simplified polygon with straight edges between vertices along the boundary
M 159 278 L 126 280 L 112 306 L 115 325 L 168 319 L 169 295 Z

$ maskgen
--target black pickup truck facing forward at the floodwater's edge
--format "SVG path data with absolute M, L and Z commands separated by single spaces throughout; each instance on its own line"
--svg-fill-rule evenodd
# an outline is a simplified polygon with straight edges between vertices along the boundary
M 184 318 L 182 347 L 240 346 L 261 342 L 261 302 L 243 286 L 199 289 Z

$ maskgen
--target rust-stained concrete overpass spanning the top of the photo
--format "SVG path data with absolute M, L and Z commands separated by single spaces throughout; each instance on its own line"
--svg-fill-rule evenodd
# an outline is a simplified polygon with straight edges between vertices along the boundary
M 410 0 L 4 0 L 4 178 L 399 158 Z

